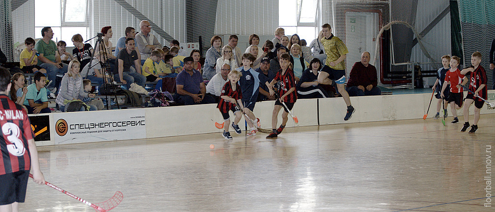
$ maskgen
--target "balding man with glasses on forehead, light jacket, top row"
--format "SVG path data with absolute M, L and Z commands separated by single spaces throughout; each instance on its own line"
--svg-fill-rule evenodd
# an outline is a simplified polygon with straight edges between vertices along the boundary
M 161 48 L 161 44 L 155 36 L 149 33 L 151 32 L 151 25 L 148 21 L 141 21 L 141 23 L 139 23 L 139 28 L 141 28 L 141 32 L 136 34 L 136 46 L 141 53 L 141 64 L 144 64 L 146 58 L 151 54 L 151 51 L 155 48 Z

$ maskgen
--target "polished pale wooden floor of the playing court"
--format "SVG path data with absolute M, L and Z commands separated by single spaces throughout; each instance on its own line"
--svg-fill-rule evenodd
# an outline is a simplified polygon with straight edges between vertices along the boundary
M 495 207 L 485 190 L 494 120 L 482 115 L 475 134 L 459 131 L 462 117 L 446 127 L 430 118 L 293 127 L 276 140 L 231 131 L 232 141 L 210 133 L 39 151 L 54 185 L 95 203 L 121 191 L 112 212 L 493 212 L 484 204 Z M 94 211 L 31 180 L 27 192 L 23 212 Z

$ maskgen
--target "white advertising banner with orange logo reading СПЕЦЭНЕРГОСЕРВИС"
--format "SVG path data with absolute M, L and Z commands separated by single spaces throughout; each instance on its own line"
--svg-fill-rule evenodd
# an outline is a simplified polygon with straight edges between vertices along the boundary
M 145 110 L 54 113 L 54 144 L 146 138 Z

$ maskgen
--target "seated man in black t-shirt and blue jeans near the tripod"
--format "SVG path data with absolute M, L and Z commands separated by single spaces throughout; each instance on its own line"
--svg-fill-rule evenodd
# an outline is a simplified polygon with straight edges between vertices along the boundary
M 114 74 L 114 80 L 121 82 L 129 89 L 131 84 L 136 83 L 141 86 L 145 86 L 146 77 L 141 74 L 141 62 L 139 61 L 138 52 L 134 50 L 135 44 L 133 38 L 125 40 L 125 50 L 119 52 L 118 59 L 115 60 L 115 66 L 118 73 Z M 136 69 L 132 67 L 132 64 L 136 66 Z

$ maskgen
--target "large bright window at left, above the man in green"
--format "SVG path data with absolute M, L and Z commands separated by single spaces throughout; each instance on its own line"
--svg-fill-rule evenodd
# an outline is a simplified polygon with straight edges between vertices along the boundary
M 74 46 L 75 34 L 87 38 L 87 0 L 35 0 L 35 37 L 41 38 L 41 29 L 51 27 L 53 41 L 65 41 Z

